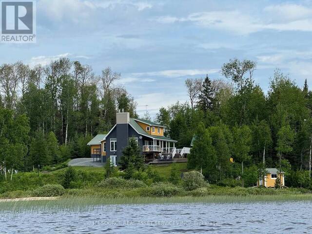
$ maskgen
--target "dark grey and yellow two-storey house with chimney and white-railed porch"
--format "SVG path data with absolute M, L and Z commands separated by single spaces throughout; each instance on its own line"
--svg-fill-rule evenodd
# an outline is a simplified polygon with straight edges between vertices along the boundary
M 164 136 L 165 126 L 158 123 L 130 118 L 128 112 L 116 114 L 116 125 L 106 134 L 97 135 L 88 145 L 91 146 L 91 157 L 96 161 L 111 162 L 117 165 L 122 150 L 129 139 L 137 141 L 146 162 L 173 161 L 175 157 L 186 157 L 190 148 L 176 149 L 176 140 Z

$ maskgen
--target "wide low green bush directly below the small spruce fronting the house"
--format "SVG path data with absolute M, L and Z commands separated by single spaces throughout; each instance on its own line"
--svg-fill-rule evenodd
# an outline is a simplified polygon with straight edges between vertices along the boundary
M 135 189 L 135 188 L 144 188 L 147 185 L 137 179 L 126 180 L 120 177 L 112 177 L 112 178 L 107 178 L 107 179 L 102 180 L 98 186 L 102 188 L 107 188 L 107 189 L 114 189 L 114 188 Z

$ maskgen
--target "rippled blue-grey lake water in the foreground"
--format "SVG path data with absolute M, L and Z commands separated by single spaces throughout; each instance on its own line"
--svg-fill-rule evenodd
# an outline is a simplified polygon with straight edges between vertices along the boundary
M 312 233 L 311 202 L 97 206 L 2 213 L 0 233 Z

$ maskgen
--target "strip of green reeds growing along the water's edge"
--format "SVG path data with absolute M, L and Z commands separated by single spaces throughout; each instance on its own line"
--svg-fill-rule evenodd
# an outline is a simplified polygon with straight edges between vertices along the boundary
M 23 200 L 0 202 L 1 213 L 18 214 L 23 212 L 82 212 L 92 211 L 98 206 L 111 205 L 157 205 L 157 204 L 226 204 L 226 203 L 273 203 L 273 202 L 312 202 L 311 194 L 301 195 L 208 195 L 171 197 L 102 197 L 63 195 L 51 200 Z

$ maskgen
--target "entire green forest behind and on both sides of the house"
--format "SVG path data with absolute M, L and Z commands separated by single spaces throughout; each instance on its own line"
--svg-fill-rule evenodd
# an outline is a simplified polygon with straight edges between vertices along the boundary
M 177 147 L 189 147 L 195 138 L 188 168 L 212 183 L 242 178 L 243 186 L 252 186 L 263 167 L 276 167 L 287 186 L 310 188 L 307 79 L 297 84 L 276 69 L 265 93 L 255 82 L 256 66 L 231 59 L 220 68 L 222 79 L 186 79 L 189 101 L 160 108 L 152 120 L 166 126 Z M 32 68 L 20 61 L 0 65 L 1 173 L 89 157 L 86 143 L 114 126 L 118 110 L 137 117 L 137 103 L 118 85 L 120 77 L 109 67 L 98 75 L 66 58 Z M 148 113 L 141 118 L 151 119 Z

